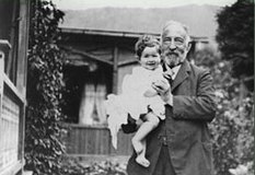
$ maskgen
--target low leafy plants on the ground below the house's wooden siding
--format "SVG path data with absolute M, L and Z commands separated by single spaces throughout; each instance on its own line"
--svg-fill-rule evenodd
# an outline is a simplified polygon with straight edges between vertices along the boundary
M 76 159 L 68 159 L 62 164 L 62 175 L 126 175 L 126 165 L 109 161 L 82 164 Z

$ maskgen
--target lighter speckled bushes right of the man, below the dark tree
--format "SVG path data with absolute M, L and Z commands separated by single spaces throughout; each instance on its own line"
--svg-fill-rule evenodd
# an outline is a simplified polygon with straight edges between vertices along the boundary
M 230 175 L 240 165 L 253 167 L 253 93 L 239 79 L 232 78 L 231 63 L 206 47 L 195 54 L 196 65 L 209 68 L 215 79 L 217 116 L 210 125 L 217 175 Z M 251 166 L 250 166 L 251 165 Z M 242 167 L 243 167 L 242 166 Z M 252 168 L 250 168 L 250 174 Z M 248 174 L 245 174 L 248 175 Z

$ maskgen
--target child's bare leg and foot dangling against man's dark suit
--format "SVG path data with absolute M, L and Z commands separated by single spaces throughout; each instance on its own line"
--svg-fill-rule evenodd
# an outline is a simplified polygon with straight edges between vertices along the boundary
M 153 113 L 148 113 L 144 116 L 144 122 L 141 124 L 141 126 L 139 127 L 139 129 L 137 130 L 136 135 L 132 138 L 132 147 L 137 153 L 137 156 L 139 158 L 138 160 L 146 160 L 146 156 L 144 156 L 146 155 L 146 151 L 144 151 L 146 137 L 155 127 L 158 127 L 159 122 L 160 122 L 160 119 Z M 139 161 L 138 163 L 146 167 L 148 167 L 150 164 L 150 163 L 149 164 L 144 163 L 144 161 Z

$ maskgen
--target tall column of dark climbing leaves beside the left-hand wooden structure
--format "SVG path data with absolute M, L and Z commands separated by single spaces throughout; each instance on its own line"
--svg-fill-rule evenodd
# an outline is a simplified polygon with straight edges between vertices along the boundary
M 63 13 L 51 1 L 31 1 L 27 68 L 25 168 L 36 175 L 59 174 L 65 147 L 60 103 L 62 54 L 57 46 Z

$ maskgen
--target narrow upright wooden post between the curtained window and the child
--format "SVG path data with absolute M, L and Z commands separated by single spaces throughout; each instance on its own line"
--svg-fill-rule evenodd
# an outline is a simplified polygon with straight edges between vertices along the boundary
M 118 92 L 118 47 L 115 44 L 114 46 L 114 69 L 113 69 L 113 93 L 117 94 Z

